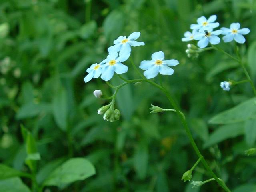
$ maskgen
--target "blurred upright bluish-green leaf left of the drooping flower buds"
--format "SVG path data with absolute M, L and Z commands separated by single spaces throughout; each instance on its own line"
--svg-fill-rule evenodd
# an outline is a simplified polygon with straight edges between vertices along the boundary
M 54 119 L 62 131 L 67 129 L 68 104 L 66 90 L 58 90 L 52 101 Z

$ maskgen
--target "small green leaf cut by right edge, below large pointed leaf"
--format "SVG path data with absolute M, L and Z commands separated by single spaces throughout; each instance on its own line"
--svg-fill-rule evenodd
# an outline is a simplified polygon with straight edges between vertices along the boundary
M 244 135 L 248 146 L 253 146 L 256 140 L 256 119 L 249 119 L 245 122 Z

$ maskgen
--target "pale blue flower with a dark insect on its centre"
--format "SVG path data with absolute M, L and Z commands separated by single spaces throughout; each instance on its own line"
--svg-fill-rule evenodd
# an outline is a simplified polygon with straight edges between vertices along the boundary
M 213 45 L 220 43 L 220 38 L 217 36 L 222 33 L 222 30 L 212 31 L 212 28 L 200 29 L 198 33 L 194 35 L 195 40 L 199 40 L 197 45 L 200 48 L 205 48 L 210 42 Z

